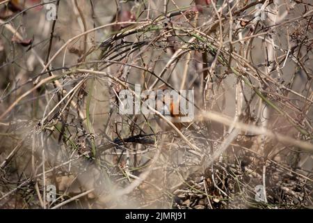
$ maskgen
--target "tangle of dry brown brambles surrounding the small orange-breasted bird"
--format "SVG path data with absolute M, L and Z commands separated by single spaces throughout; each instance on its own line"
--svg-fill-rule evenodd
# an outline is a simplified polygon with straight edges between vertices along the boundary
M 116 3 L 0 5 L 0 207 L 312 207 L 310 3 Z

